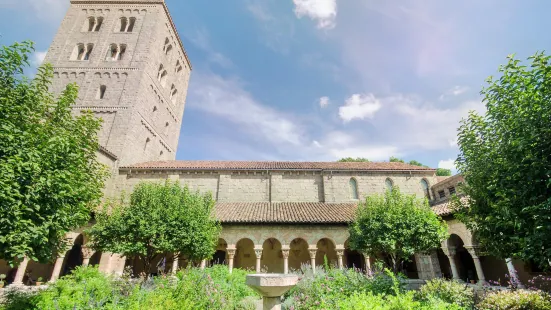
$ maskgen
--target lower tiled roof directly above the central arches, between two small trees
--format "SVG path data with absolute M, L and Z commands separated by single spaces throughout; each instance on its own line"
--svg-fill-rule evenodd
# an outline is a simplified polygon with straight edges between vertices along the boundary
M 218 202 L 214 214 L 225 224 L 346 224 L 356 208 L 356 203 Z

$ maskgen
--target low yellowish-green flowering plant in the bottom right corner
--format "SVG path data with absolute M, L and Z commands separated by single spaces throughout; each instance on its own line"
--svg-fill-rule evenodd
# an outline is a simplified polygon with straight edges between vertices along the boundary
M 549 310 L 551 296 L 541 291 L 499 291 L 489 293 L 477 305 L 479 310 Z

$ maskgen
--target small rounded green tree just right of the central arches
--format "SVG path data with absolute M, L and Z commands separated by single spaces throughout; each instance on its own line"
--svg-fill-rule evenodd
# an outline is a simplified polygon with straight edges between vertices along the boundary
M 349 233 L 353 249 L 383 255 L 395 272 L 415 253 L 436 249 L 448 237 L 446 223 L 426 199 L 402 194 L 397 187 L 368 196 L 358 206 Z

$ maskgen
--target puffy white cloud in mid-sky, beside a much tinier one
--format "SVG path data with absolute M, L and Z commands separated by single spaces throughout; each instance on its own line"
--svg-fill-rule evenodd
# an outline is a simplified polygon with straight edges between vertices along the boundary
M 339 117 L 344 122 L 354 119 L 373 118 L 381 109 L 381 102 L 373 94 L 354 94 L 346 99 L 345 105 L 339 108 Z

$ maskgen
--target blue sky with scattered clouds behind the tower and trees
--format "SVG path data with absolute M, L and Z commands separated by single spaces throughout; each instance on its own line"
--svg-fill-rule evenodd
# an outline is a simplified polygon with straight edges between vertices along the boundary
M 1 0 L 36 63 L 68 0 Z M 178 159 L 394 155 L 451 167 L 508 54 L 549 50 L 547 0 L 166 0 L 193 64 Z

